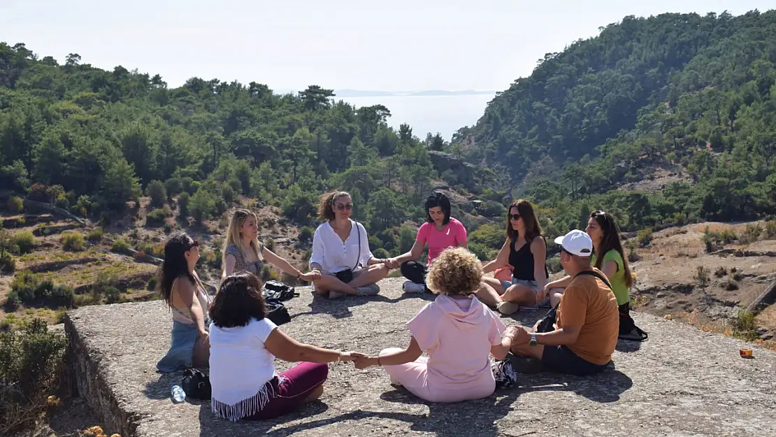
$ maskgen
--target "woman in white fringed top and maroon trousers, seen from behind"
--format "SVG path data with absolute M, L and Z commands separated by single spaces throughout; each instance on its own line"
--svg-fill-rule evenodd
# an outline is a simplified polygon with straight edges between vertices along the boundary
M 289 413 L 324 392 L 327 362 L 366 355 L 296 342 L 266 318 L 262 282 L 252 273 L 227 276 L 210 306 L 210 407 L 230 421 Z M 275 357 L 300 362 L 275 371 Z

